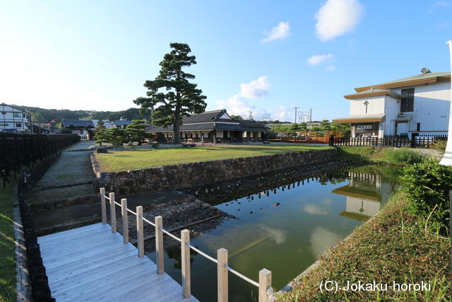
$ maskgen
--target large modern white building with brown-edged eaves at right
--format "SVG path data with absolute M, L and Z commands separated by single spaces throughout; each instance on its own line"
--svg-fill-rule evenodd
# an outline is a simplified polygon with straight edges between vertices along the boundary
M 352 137 L 430 137 L 448 132 L 451 73 L 431 72 L 371 86 L 344 95 L 350 116 L 333 120 L 352 126 Z

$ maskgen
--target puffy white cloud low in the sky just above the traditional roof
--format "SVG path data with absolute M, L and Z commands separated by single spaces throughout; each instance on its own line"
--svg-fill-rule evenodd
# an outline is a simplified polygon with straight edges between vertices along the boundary
M 240 84 L 240 92 L 232 95 L 225 100 L 215 101 L 216 108 L 225 108 L 230 115 L 241 115 L 244 118 L 249 117 L 249 112 L 253 112 L 254 120 L 261 120 L 262 117 L 272 117 L 273 120 L 287 120 L 292 117 L 291 110 L 285 106 L 278 106 L 271 110 L 258 109 L 251 104 L 249 99 L 265 98 L 268 96 L 268 90 L 271 83 L 267 76 L 260 76 L 258 79 L 249 83 Z

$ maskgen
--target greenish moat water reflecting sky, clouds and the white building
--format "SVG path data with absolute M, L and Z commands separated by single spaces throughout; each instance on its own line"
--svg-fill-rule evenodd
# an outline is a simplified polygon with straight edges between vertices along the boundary
M 225 200 L 216 207 L 237 219 L 227 219 L 191 244 L 215 258 L 226 248 L 228 265 L 254 281 L 259 270 L 270 269 L 278 291 L 376 215 L 397 190 L 397 173 L 397 168 L 367 165 Z M 155 253 L 148 257 L 155 261 Z M 181 283 L 180 248 L 167 249 L 165 272 Z M 256 286 L 234 274 L 229 274 L 229 291 L 230 301 L 257 301 Z M 217 300 L 217 266 L 202 255 L 191 255 L 191 293 L 200 301 Z

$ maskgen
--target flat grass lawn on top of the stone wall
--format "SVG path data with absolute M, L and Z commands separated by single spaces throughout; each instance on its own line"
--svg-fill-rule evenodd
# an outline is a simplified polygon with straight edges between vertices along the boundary
M 151 168 L 159 165 L 196 163 L 218 159 L 271 155 L 285 152 L 328 149 L 328 146 L 258 145 L 258 146 L 212 146 L 194 148 L 136 149 L 97 153 L 102 171 L 117 172 Z

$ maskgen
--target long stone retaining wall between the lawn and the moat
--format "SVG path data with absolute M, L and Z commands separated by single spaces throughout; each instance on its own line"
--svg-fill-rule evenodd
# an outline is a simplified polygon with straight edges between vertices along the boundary
M 207 185 L 218 181 L 261 175 L 305 164 L 332 161 L 335 156 L 335 149 L 323 149 L 221 161 L 182 163 L 121 172 L 102 172 L 95 159 L 95 154 L 91 155 L 91 161 L 97 178 L 97 186 L 105 187 L 107 192 L 125 195 L 162 188 L 184 189 L 194 185 Z

